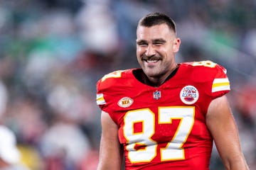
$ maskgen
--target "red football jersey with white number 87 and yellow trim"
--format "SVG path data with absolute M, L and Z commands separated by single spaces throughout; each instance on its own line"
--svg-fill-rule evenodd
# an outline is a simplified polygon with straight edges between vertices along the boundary
M 136 71 L 97 82 L 97 104 L 119 127 L 126 169 L 209 169 L 206 113 L 210 101 L 230 91 L 226 70 L 210 61 L 181 63 L 159 87 L 143 84 Z

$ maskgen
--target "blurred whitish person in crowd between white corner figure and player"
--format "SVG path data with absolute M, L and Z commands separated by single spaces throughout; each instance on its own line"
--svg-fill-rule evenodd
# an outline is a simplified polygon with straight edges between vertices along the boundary
M 40 142 L 46 170 L 76 170 L 92 149 L 89 137 L 80 127 L 85 121 L 85 112 L 80 111 L 82 90 L 78 81 L 63 70 L 55 70 L 50 84 L 47 101 L 53 122 Z M 90 111 L 90 107 L 87 109 Z

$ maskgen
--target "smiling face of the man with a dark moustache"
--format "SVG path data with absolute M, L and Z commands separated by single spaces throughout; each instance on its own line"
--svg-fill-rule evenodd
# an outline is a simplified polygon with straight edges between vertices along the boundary
M 165 23 L 137 28 L 137 60 L 146 76 L 166 79 L 176 68 L 175 53 L 181 40 Z

